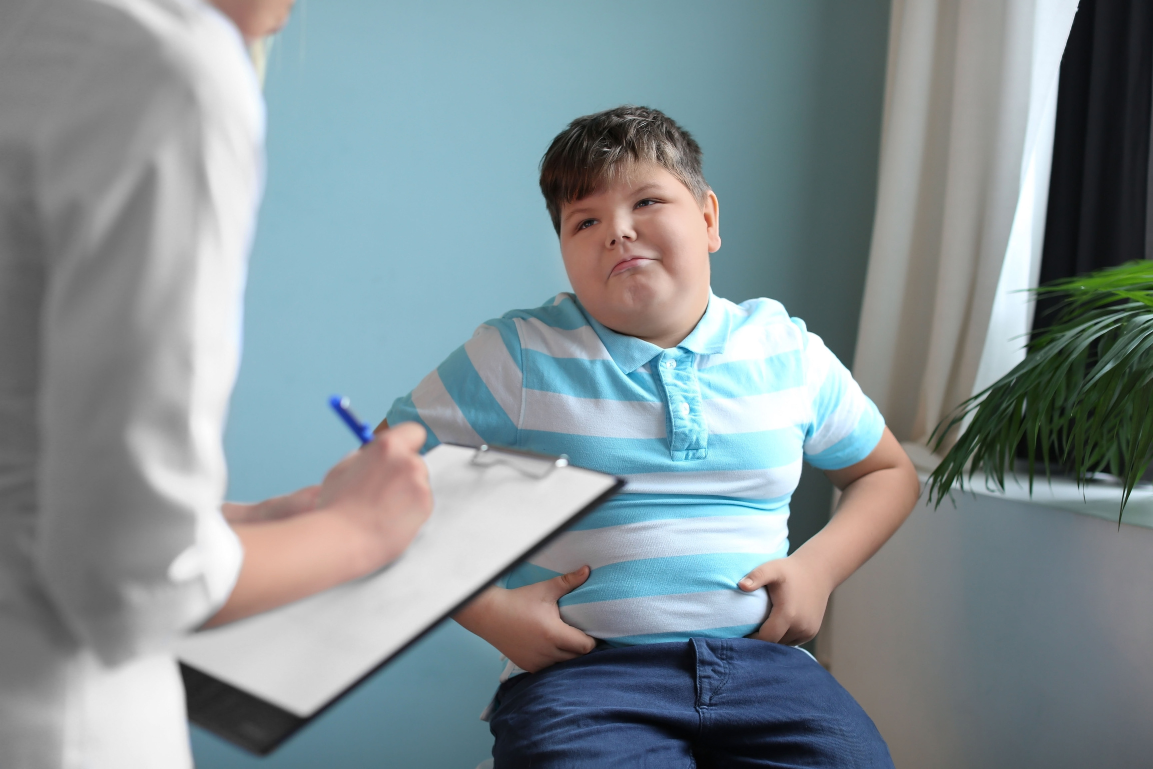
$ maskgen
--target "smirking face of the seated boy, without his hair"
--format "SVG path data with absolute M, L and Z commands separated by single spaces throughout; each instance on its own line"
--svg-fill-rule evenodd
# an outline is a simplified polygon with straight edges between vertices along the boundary
M 576 297 L 618 333 L 677 346 L 709 303 L 718 203 L 703 205 L 655 164 L 636 165 L 560 210 L 560 255 Z

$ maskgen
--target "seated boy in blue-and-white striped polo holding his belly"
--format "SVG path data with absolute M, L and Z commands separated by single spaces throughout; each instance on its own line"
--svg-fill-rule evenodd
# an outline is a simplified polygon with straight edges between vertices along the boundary
M 625 492 L 462 609 L 508 657 L 500 767 L 891 767 L 807 653 L 832 588 L 912 510 L 915 472 L 784 308 L 711 294 L 717 197 L 664 114 L 573 121 L 541 189 L 574 294 L 514 310 L 397 400 L 439 440 L 566 453 Z M 843 490 L 787 556 L 801 459 Z

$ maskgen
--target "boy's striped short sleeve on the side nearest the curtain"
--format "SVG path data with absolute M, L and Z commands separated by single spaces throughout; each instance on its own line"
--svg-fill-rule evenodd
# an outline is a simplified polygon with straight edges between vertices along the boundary
M 793 322 L 805 334 L 805 383 L 812 406 L 805 459 L 822 470 L 856 465 L 881 440 L 884 419 L 821 338 Z

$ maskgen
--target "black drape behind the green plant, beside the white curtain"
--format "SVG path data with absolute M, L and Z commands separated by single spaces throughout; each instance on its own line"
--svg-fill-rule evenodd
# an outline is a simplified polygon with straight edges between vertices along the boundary
M 1041 284 L 1147 258 L 1151 96 L 1153 0 L 1082 0 L 1061 60 Z M 1034 329 L 1052 309 L 1038 304 Z

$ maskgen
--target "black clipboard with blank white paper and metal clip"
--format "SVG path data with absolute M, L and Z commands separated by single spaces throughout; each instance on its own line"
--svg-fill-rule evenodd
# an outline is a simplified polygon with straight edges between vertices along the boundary
M 188 717 L 267 755 L 625 482 L 511 448 L 424 455 L 434 508 L 395 561 L 176 644 Z

